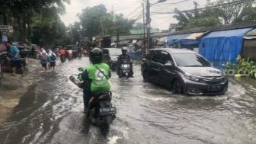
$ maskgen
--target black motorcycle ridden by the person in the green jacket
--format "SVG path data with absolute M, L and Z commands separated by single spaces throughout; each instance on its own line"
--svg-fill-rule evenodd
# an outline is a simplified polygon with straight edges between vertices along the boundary
M 78 71 L 84 72 L 83 68 L 78 68 Z M 69 79 L 78 85 L 78 80 L 74 76 L 70 76 Z M 92 95 L 89 101 L 89 110 L 86 113 L 86 117 L 91 124 L 99 126 L 101 132 L 106 133 L 109 130 L 110 124 L 116 118 L 117 108 L 112 106 L 111 103 L 112 93 L 110 91 Z

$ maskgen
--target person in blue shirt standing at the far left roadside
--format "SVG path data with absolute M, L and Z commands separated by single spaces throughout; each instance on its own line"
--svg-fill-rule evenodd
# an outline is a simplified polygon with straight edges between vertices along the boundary
M 13 46 L 11 41 L 6 41 L 5 46 L 7 47 L 8 55 L 11 57 L 12 75 L 15 76 L 16 69 L 21 69 L 22 76 L 25 76 L 24 67 L 21 66 L 20 50 L 16 46 Z

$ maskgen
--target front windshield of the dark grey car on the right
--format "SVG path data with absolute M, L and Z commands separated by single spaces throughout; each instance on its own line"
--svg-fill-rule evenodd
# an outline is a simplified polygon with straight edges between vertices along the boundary
M 177 63 L 177 66 L 186 66 L 186 67 L 210 67 L 211 64 L 206 59 L 203 59 L 202 56 L 199 56 L 195 53 L 174 53 L 174 59 Z

